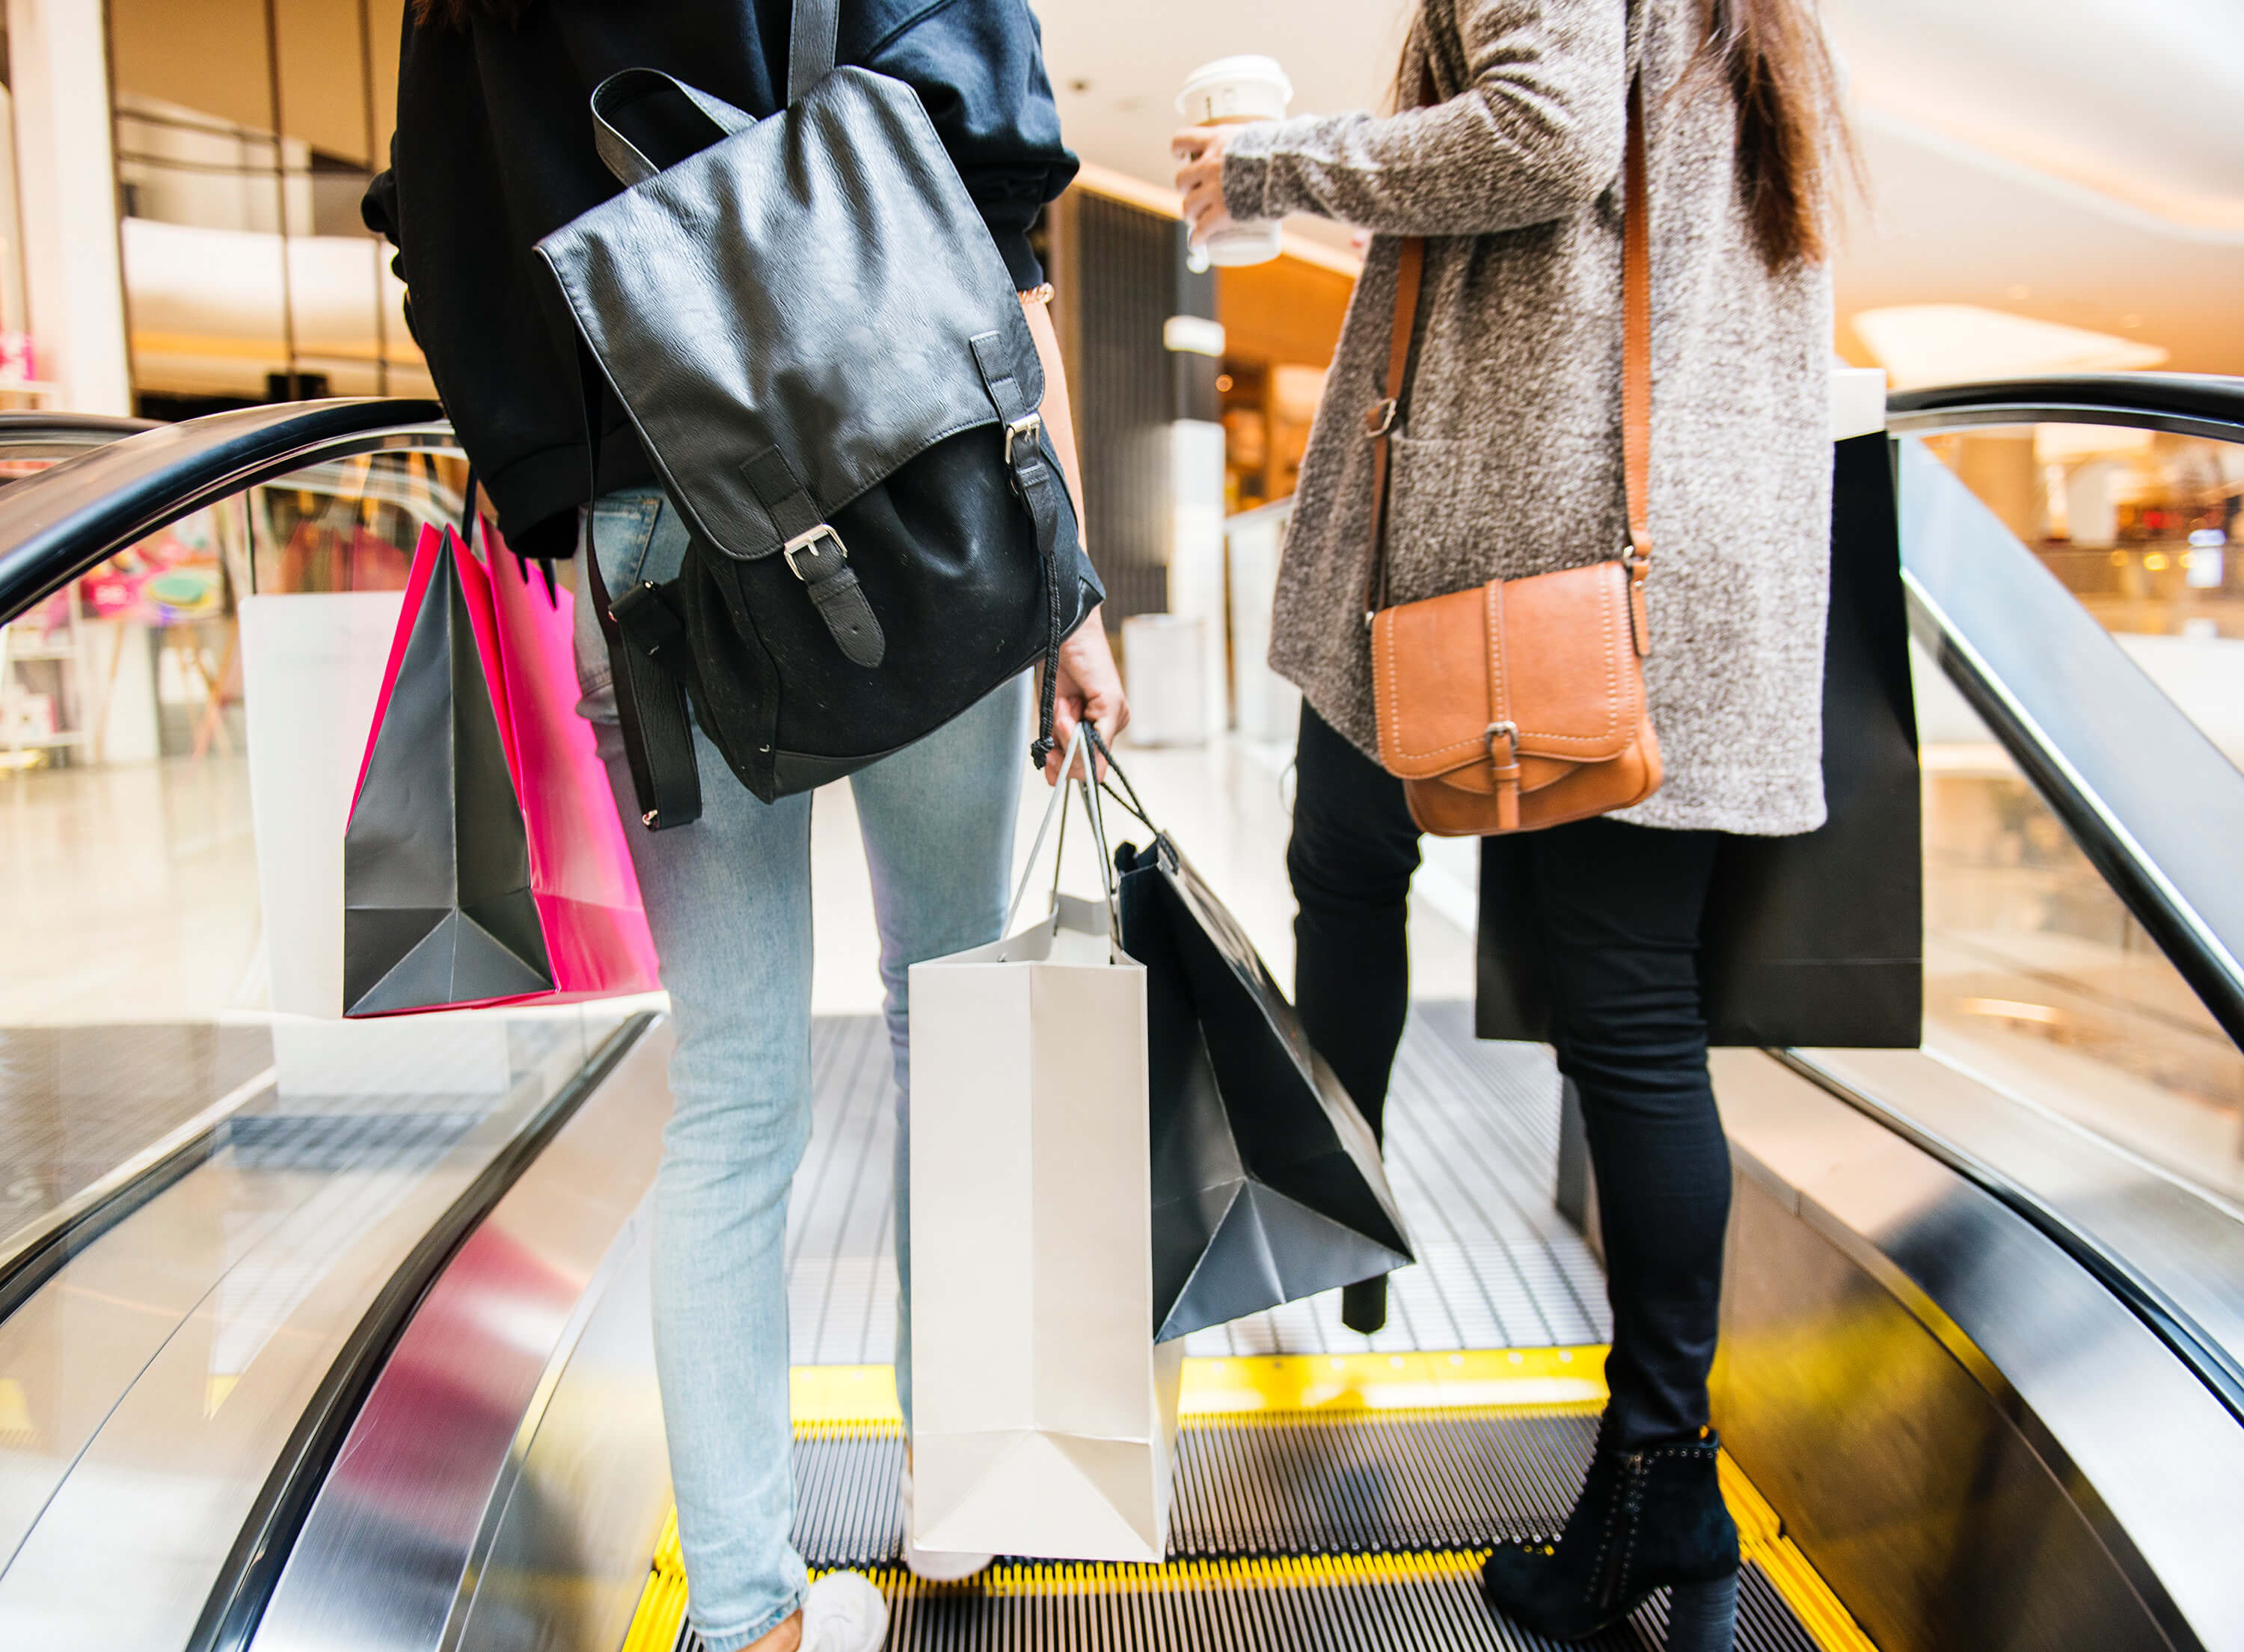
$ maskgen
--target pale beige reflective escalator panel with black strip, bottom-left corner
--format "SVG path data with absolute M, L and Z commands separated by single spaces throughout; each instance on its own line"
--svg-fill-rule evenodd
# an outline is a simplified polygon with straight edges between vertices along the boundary
M 348 1423 L 352 1374 L 379 1367 L 460 1226 L 583 1100 L 583 1012 L 478 1030 L 503 1091 L 283 1089 L 0 1324 L 49 1389 L 29 1441 L 0 1441 L 45 1477 L 0 1475 L 38 1493 L 9 1533 L 0 1645 L 177 1652 L 213 1578 L 227 1603 L 263 1598 L 294 1533 L 274 1493 L 330 1461 L 312 1419 Z

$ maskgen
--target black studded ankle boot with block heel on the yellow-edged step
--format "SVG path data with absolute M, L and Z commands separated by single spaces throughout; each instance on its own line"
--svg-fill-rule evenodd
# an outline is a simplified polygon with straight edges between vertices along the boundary
M 1703 1439 L 1598 1450 L 1555 1544 L 1506 1544 L 1481 1567 L 1481 1598 L 1553 1641 L 1587 1641 L 1667 1587 L 1667 1652 L 1728 1652 L 1737 1616 L 1737 1522 Z

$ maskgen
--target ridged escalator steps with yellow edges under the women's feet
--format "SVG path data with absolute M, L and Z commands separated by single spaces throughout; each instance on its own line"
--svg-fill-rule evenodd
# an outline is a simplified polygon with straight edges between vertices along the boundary
M 1450 1353 L 1427 1369 L 1411 1356 L 1218 1360 L 1198 1383 L 1187 1362 L 1187 1401 L 1198 1401 L 1178 1430 L 1167 1562 L 999 1560 L 960 1585 L 898 1564 L 904 1441 L 886 1369 L 803 1367 L 794 1547 L 812 1571 L 871 1573 L 889 1596 L 893 1652 L 1546 1652 L 1488 1614 L 1479 1567 L 1490 1544 L 1546 1535 L 1573 1504 L 1602 1405 L 1582 1356 Z M 1340 1389 L 1355 1403 L 1304 1410 Z M 1441 1398 L 1418 1398 L 1429 1392 Z M 1746 1560 L 1739 1652 L 1876 1652 L 1728 1454 L 1721 1481 Z M 1665 1609 L 1654 1596 L 1587 1645 L 1652 1652 Z M 675 1520 L 626 1652 L 702 1652 L 684 1627 Z

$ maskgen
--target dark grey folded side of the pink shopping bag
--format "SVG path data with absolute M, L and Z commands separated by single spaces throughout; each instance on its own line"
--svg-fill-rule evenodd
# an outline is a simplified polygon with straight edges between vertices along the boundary
M 482 577 L 462 568 L 449 530 L 422 534 L 343 828 L 343 1015 L 554 985 L 491 700 L 498 655 L 482 646 L 494 633 Z

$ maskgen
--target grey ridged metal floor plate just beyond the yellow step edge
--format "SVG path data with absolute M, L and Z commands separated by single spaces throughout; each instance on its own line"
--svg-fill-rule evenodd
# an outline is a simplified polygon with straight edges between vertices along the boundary
M 871 1015 L 812 1028 L 817 1122 L 788 1219 L 797 1365 L 895 1353 L 889 1044 Z M 1551 1208 L 1557 1073 L 1548 1053 L 1479 1044 L 1470 1006 L 1411 1012 L 1389 1102 L 1387 1165 L 1418 1266 L 1394 1275 L 1387 1329 L 1340 1324 L 1340 1293 L 1192 1336 L 1189 1353 L 1358 1353 L 1602 1342 L 1604 1279 Z

